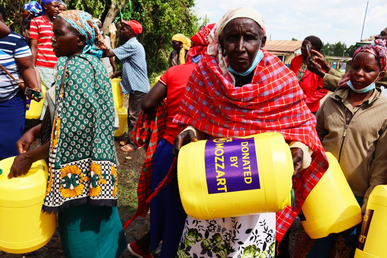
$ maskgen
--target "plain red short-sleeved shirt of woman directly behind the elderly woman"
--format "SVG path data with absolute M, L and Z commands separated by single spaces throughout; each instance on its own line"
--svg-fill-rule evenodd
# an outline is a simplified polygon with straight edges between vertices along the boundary
M 159 79 L 159 82 L 167 88 L 168 115 L 166 117 L 167 123 L 163 139 L 166 139 L 172 145 L 176 135 L 182 131 L 181 126 L 178 126 L 172 120 L 179 110 L 184 96 L 185 86 L 187 86 L 188 78 L 195 67 L 196 64 L 191 62 L 175 65 L 168 69 Z

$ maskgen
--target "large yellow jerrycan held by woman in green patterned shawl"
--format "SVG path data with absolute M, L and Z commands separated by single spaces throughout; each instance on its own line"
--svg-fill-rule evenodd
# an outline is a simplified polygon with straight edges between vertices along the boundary
M 27 175 L 9 179 L 14 158 L 0 161 L 0 249 L 28 253 L 50 241 L 57 216 L 41 211 L 47 186 L 46 162 L 34 162 Z

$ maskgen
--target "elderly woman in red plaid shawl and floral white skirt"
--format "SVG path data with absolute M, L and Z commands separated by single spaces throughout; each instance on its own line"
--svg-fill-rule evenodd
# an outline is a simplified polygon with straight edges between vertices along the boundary
M 309 192 L 327 169 L 297 78 L 265 46 L 265 24 L 255 10 L 229 10 L 209 36 L 207 52 L 188 81 L 173 120 L 188 126 L 174 153 L 190 141 L 279 132 L 291 146 L 295 205 L 278 213 L 197 220 L 187 217 L 178 257 L 274 257 Z M 252 256 L 251 256 L 252 255 Z

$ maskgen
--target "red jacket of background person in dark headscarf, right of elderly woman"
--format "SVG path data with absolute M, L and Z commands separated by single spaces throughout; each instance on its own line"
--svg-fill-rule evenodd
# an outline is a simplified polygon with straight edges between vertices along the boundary
M 298 70 L 300 70 L 302 62 L 302 55 L 297 55 L 291 60 L 290 70 L 293 71 L 296 76 Z M 302 76 L 300 81 L 300 87 L 304 94 L 307 96 L 306 103 L 310 112 L 316 112 L 320 107 L 320 100 L 327 95 L 328 91 L 322 88 L 322 79 L 317 74 L 307 70 Z

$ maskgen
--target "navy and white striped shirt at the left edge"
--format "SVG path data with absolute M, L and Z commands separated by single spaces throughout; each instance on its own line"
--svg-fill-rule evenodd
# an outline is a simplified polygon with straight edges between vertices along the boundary
M 11 33 L 0 38 L 0 64 L 19 80 L 20 70 L 15 58 L 31 56 L 31 50 L 25 38 L 19 34 Z M 11 79 L 3 69 L 0 69 L 0 102 L 10 100 L 18 91 L 17 83 Z

